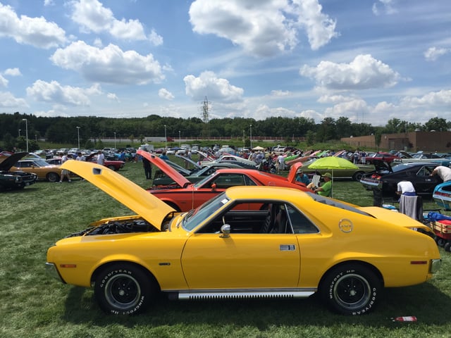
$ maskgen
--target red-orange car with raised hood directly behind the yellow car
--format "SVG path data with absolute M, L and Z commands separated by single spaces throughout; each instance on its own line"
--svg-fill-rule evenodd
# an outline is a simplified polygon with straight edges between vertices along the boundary
M 171 177 L 180 186 L 153 187 L 147 189 L 148 192 L 172 206 L 176 211 L 190 211 L 192 208 L 197 208 L 197 206 L 204 204 L 204 202 L 225 191 L 227 188 L 237 185 L 290 187 L 309 191 L 305 184 L 295 181 L 296 171 L 302 165 L 301 163 L 296 163 L 292 166 L 288 177 L 252 169 L 230 168 L 216 170 L 215 173 L 205 177 L 204 180 L 192 184 L 186 177 L 180 175 L 180 173 L 158 156 L 149 154 L 143 150 L 138 150 L 137 154 L 147 158 L 153 165 L 156 165 L 156 167 Z

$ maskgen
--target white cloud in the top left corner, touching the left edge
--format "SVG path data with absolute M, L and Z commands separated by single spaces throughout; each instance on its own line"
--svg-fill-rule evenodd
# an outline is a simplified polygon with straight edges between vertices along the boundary
M 11 37 L 18 44 L 49 49 L 66 43 L 66 32 L 45 18 L 18 15 L 11 6 L 0 3 L 0 37 Z

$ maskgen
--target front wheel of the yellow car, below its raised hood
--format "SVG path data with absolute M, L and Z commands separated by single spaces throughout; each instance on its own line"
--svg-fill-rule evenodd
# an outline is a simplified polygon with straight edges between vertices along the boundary
M 144 311 L 156 294 L 152 277 L 134 265 L 113 264 L 96 278 L 94 294 L 100 308 L 112 315 L 133 315 Z

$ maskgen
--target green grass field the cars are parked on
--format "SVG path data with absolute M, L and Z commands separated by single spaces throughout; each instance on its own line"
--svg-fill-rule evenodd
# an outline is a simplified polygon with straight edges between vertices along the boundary
M 149 187 L 142 163 L 120 171 Z M 371 192 L 347 180 L 335 182 L 334 197 L 360 206 Z M 91 289 L 63 285 L 44 271 L 46 251 L 67 234 L 100 218 L 132 213 L 78 179 L 37 182 L 1 193 L 0 337 L 451 337 L 451 253 L 440 249 L 443 265 L 433 280 L 387 289 L 370 315 L 330 313 L 312 299 L 168 301 L 147 313 L 118 318 L 102 313 Z M 426 201 L 425 208 L 436 208 Z M 387 234 L 390 237 L 390 234 Z M 390 318 L 415 315 L 415 323 Z

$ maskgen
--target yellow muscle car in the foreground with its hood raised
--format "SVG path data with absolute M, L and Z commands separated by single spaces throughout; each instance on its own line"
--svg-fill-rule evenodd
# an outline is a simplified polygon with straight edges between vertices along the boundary
M 373 310 L 383 287 L 429 280 L 440 253 L 428 227 L 384 208 L 359 207 L 298 189 L 232 187 L 175 213 L 122 175 L 67 161 L 136 215 L 107 218 L 47 252 L 63 283 L 94 287 L 114 315 L 171 299 L 299 297 L 319 293 L 339 313 Z

